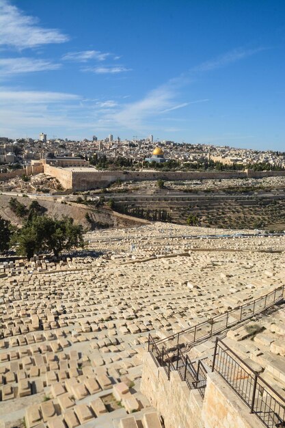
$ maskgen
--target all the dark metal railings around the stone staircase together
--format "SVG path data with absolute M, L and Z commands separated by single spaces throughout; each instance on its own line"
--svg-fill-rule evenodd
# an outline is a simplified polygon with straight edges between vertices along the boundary
M 193 363 L 182 353 L 182 347 L 185 346 L 184 343 L 180 343 L 180 338 L 185 332 L 192 334 L 189 338 L 192 338 L 191 344 L 197 343 L 200 340 L 204 340 L 208 337 L 211 337 L 221 330 L 225 330 L 227 327 L 235 325 L 245 319 L 252 317 L 253 315 L 262 312 L 264 309 L 267 309 L 277 302 L 281 302 L 284 294 L 284 285 L 277 287 L 277 289 L 267 293 L 258 299 L 255 299 L 253 302 L 239 306 L 239 308 L 226 312 L 223 315 L 218 315 L 200 323 L 193 327 L 189 327 L 182 332 L 172 334 L 165 339 L 154 340 L 149 334 L 148 336 L 148 351 L 150 352 L 152 358 L 154 359 L 157 366 L 163 366 L 167 374 L 168 379 L 170 378 L 170 371 L 178 371 L 182 381 L 185 381 L 189 389 L 198 389 L 201 394 L 201 397 L 204 398 L 204 390 L 206 388 L 207 381 L 207 369 L 204 366 L 202 360 L 198 360 L 197 370 L 193 366 Z M 269 298 L 273 297 L 273 299 Z M 264 306 L 263 301 L 264 300 Z M 262 306 L 258 305 L 258 302 L 262 302 Z M 251 313 L 247 314 L 246 308 L 253 306 Z M 257 307 L 257 310 L 256 310 Z M 229 323 L 230 314 L 236 311 L 241 311 L 240 319 L 234 322 Z M 215 320 L 223 319 L 226 317 L 226 325 L 215 330 L 213 325 L 215 325 Z M 197 332 L 201 331 L 201 327 L 209 324 L 211 326 L 210 332 L 206 332 L 204 336 L 197 338 Z M 199 330 L 200 329 L 200 330 Z M 166 346 L 170 342 L 172 346 Z M 225 348 L 225 349 L 223 349 Z M 224 358 L 221 358 L 220 353 L 223 353 L 226 356 L 226 361 Z M 166 358 L 165 358 L 166 357 Z M 228 364 L 228 359 L 231 360 Z M 245 373 L 244 376 L 236 377 L 236 370 L 234 369 L 234 374 L 232 377 L 232 366 L 235 364 L 237 367 L 237 373 Z M 246 369 L 246 370 L 245 370 Z M 239 356 L 232 351 L 223 341 L 219 338 L 216 338 L 215 351 L 213 355 L 213 364 L 212 371 L 217 371 L 221 377 L 229 384 L 229 386 L 236 392 L 236 394 L 243 399 L 247 406 L 250 407 L 251 413 L 256 414 L 262 423 L 269 428 L 273 427 L 285 427 L 285 400 L 281 395 L 275 391 L 258 373 L 256 373 L 251 367 L 243 362 Z M 239 382 L 241 381 L 242 382 Z M 246 390 L 243 390 L 245 381 L 247 382 Z M 238 387 L 239 385 L 239 387 Z M 264 395 L 265 391 L 265 395 Z M 261 397 L 261 398 L 260 398 Z M 264 399 L 265 397 L 265 399 Z M 275 398 L 277 397 L 277 399 Z M 274 406 L 274 408 L 273 408 Z M 276 422 L 277 421 L 277 422 Z M 282 424 L 282 425 L 281 425 Z

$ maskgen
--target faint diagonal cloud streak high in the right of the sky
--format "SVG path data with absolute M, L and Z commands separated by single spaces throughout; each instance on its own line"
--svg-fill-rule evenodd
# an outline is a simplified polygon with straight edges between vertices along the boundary
M 215 70 L 216 68 L 221 68 L 228 66 L 229 64 L 232 64 L 234 62 L 238 62 L 241 59 L 244 59 L 246 57 L 251 57 L 252 55 L 255 55 L 256 53 L 259 53 L 261 51 L 264 51 L 266 48 L 264 47 L 258 47 L 256 49 L 233 49 L 232 51 L 229 51 L 227 53 L 224 53 L 223 55 L 219 55 L 218 57 L 211 59 L 206 62 L 202 62 L 202 64 L 195 66 L 191 68 L 190 71 L 196 72 L 196 71 L 211 71 Z

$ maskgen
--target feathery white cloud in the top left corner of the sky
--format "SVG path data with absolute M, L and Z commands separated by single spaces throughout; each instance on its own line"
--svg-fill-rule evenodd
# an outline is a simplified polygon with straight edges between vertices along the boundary
M 7 0 L 0 0 L 0 45 L 18 49 L 33 48 L 42 44 L 63 43 L 68 36 L 57 29 L 45 29 L 38 19 L 27 16 Z

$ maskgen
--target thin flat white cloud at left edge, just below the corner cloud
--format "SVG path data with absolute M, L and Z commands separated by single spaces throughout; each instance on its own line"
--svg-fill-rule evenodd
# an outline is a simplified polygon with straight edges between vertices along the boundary
M 61 64 L 33 58 L 3 58 L 0 59 L 0 75 L 14 75 L 22 72 L 57 70 Z

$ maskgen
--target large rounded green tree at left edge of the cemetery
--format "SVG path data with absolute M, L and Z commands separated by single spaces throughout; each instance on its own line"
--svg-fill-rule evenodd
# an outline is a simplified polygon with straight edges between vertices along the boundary
M 83 227 L 73 224 L 73 219 L 53 219 L 42 215 L 27 221 L 16 236 L 18 253 L 27 258 L 41 252 L 58 256 L 64 250 L 83 247 Z

